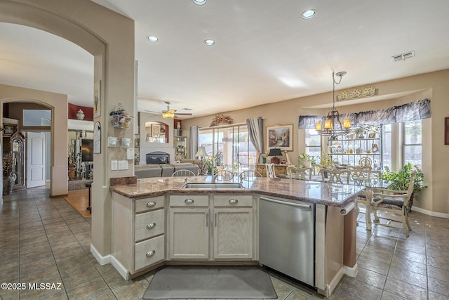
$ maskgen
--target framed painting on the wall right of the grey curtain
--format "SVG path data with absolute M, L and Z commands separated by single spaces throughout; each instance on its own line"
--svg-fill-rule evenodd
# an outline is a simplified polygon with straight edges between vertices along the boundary
M 293 151 L 293 124 L 265 127 L 266 150 L 279 148 Z

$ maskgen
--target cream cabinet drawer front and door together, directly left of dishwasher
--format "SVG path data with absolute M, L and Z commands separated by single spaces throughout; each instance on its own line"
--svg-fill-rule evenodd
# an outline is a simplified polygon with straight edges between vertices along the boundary
M 213 214 L 213 258 L 253 259 L 253 196 L 215 195 Z

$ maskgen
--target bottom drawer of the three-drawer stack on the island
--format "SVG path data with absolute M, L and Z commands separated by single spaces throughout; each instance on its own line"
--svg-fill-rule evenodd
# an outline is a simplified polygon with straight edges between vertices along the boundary
M 134 247 L 134 270 L 145 268 L 165 258 L 164 236 L 138 242 Z

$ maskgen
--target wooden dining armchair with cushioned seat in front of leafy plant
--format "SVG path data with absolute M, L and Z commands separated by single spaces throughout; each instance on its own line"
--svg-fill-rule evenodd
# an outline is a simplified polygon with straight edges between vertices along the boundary
M 410 197 L 413 193 L 413 184 L 415 183 L 415 171 L 410 175 L 410 184 L 408 185 L 408 190 L 388 190 L 379 189 L 378 192 L 373 193 L 373 190 L 366 191 L 367 200 L 370 201 L 368 214 L 373 213 L 374 223 L 377 225 L 398 228 L 391 224 L 392 222 L 402 223 L 402 227 L 406 236 L 409 236 L 409 232 L 412 230 L 410 226 L 410 221 L 408 221 L 408 204 L 410 202 Z M 385 211 L 389 215 L 379 216 L 379 211 Z M 394 215 L 400 215 L 401 220 L 394 219 Z M 380 219 L 387 220 L 387 223 L 381 223 Z M 366 228 L 371 230 L 371 218 L 366 219 Z

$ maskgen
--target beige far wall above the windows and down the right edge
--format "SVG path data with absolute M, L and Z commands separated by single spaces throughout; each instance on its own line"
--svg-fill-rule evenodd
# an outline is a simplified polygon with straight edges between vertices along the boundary
M 377 99 L 376 101 L 357 103 L 357 100 L 351 100 L 346 103 L 337 103 L 339 112 L 345 113 L 377 110 L 409 103 L 414 100 L 422 100 L 423 98 L 429 98 L 431 100 L 432 117 L 431 119 L 424 119 L 422 122 L 422 169 L 429 188 L 417 195 L 417 199 L 413 205 L 423 209 L 428 214 L 445 217 L 449 217 L 449 186 L 446 175 L 446 168 L 449 166 L 449 145 L 444 145 L 443 130 L 444 117 L 449 117 L 449 101 L 447 100 L 447 95 L 449 95 L 448 81 L 449 70 L 442 70 L 413 77 L 376 82 L 370 84 L 377 89 L 376 96 L 370 98 L 370 100 Z M 401 96 L 404 93 L 407 95 Z M 362 98 L 358 101 L 363 100 L 367 99 Z M 347 105 L 349 103 L 350 105 Z M 340 104 L 344 104 L 345 106 L 339 107 L 338 105 Z M 328 108 L 311 108 L 317 105 L 327 105 Z M 330 107 L 332 107 L 331 92 L 250 107 L 245 110 L 223 112 L 223 114 L 230 115 L 235 123 L 246 122 L 246 119 L 250 117 L 264 117 L 264 126 L 294 124 L 294 150 L 289 155 L 292 162 L 295 162 L 298 153 L 304 151 L 304 134 L 301 130 L 297 129 L 298 116 L 327 115 Z M 201 127 L 208 127 L 213 117 L 214 115 L 185 119 L 182 121 L 182 129 L 184 129 L 184 132 L 188 132 L 187 129 L 190 126 L 199 125 Z

